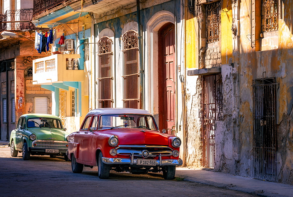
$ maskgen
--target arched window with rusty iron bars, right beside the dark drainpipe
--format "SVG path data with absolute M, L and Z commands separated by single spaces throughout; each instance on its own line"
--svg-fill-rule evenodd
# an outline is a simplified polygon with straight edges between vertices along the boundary
M 123 106 L 139 108 L 139 51 L 138 33 L 125 32 L 123 41 Z

